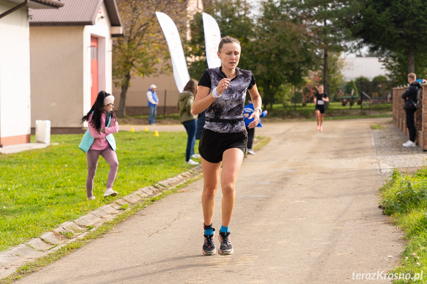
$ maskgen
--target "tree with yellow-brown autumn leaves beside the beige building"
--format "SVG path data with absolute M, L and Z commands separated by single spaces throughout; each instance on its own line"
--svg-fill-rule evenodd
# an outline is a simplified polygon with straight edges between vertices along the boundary
M 113 41 L 113 82 L 121 87 L 118 117 L 126 116 L 126 93 L 132 76 L 141 77 L 165 72 L 170 66 L 158 65 L 169 57 L 167 43 L 155 15 L 165 12 L 177 26 L 186 25 L 184 0 L 117 0 L 124 38 Z

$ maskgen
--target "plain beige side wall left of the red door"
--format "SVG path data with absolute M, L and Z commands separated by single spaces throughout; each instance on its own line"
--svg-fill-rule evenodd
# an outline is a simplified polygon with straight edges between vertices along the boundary
M 32 127 L 82 127 L 83 27 L 30 27 L 30 37 Z

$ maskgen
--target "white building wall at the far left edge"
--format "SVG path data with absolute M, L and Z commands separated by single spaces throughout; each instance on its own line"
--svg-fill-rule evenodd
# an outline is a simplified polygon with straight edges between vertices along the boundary
M 14 6 L 16 4 L 0 0 L 0 14 Z M 0 19 L 0 137 L 3 145 L 12 139 L 4 137 L 26 137 L 31 132 L 29 36 L 27 7 Z

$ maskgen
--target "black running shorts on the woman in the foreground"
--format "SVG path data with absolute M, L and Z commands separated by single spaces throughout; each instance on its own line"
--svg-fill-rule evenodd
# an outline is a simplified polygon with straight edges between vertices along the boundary
M 222 154 L 228 149 L 237 148 L 244 154 L 246 145 L 246 130 L 236 133 L 220 133 L 203 129 L 199 141 L 199 154 L 206 161 L 217 163 L 222 161 Z

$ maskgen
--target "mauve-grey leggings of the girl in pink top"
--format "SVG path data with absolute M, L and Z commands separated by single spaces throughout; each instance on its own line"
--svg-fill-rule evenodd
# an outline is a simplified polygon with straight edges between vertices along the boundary
M 117 175 L 117 168 L 119 167 L 119 161 L 117 161 L 116 152 L 111 147 L 104 150 L 89 150 L 86 153 L 88 160 L 88 178 L 86 179 L 86 194 L 88 198 L 93 195 L 94 179 L 96 168 L 98 166 L 99 155 L 110 164 L 110 172 L 108 173 L 107 187 L 113 188 L 114 179 Z

